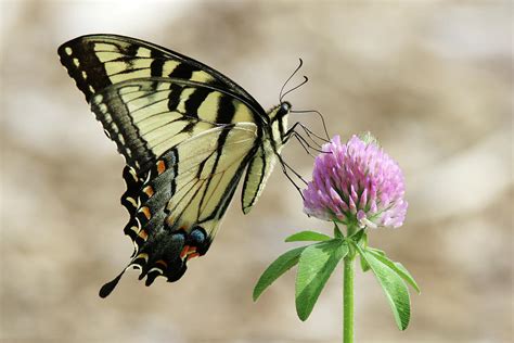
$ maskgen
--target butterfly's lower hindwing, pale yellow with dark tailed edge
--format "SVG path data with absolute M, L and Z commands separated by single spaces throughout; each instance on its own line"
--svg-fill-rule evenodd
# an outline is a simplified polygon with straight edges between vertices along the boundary
M 177 280 L 189 259 L 207 252 L 257 137 L 253 123 L 216 127 L 163 154 L 141 178 L 126 167 L 121 202 L 130 220 L 125 232 L 134 243 L 128 267 L 141 269 L 146 284 L 158 276 Z M 101 295 L 108 295 L 117 280 Z

